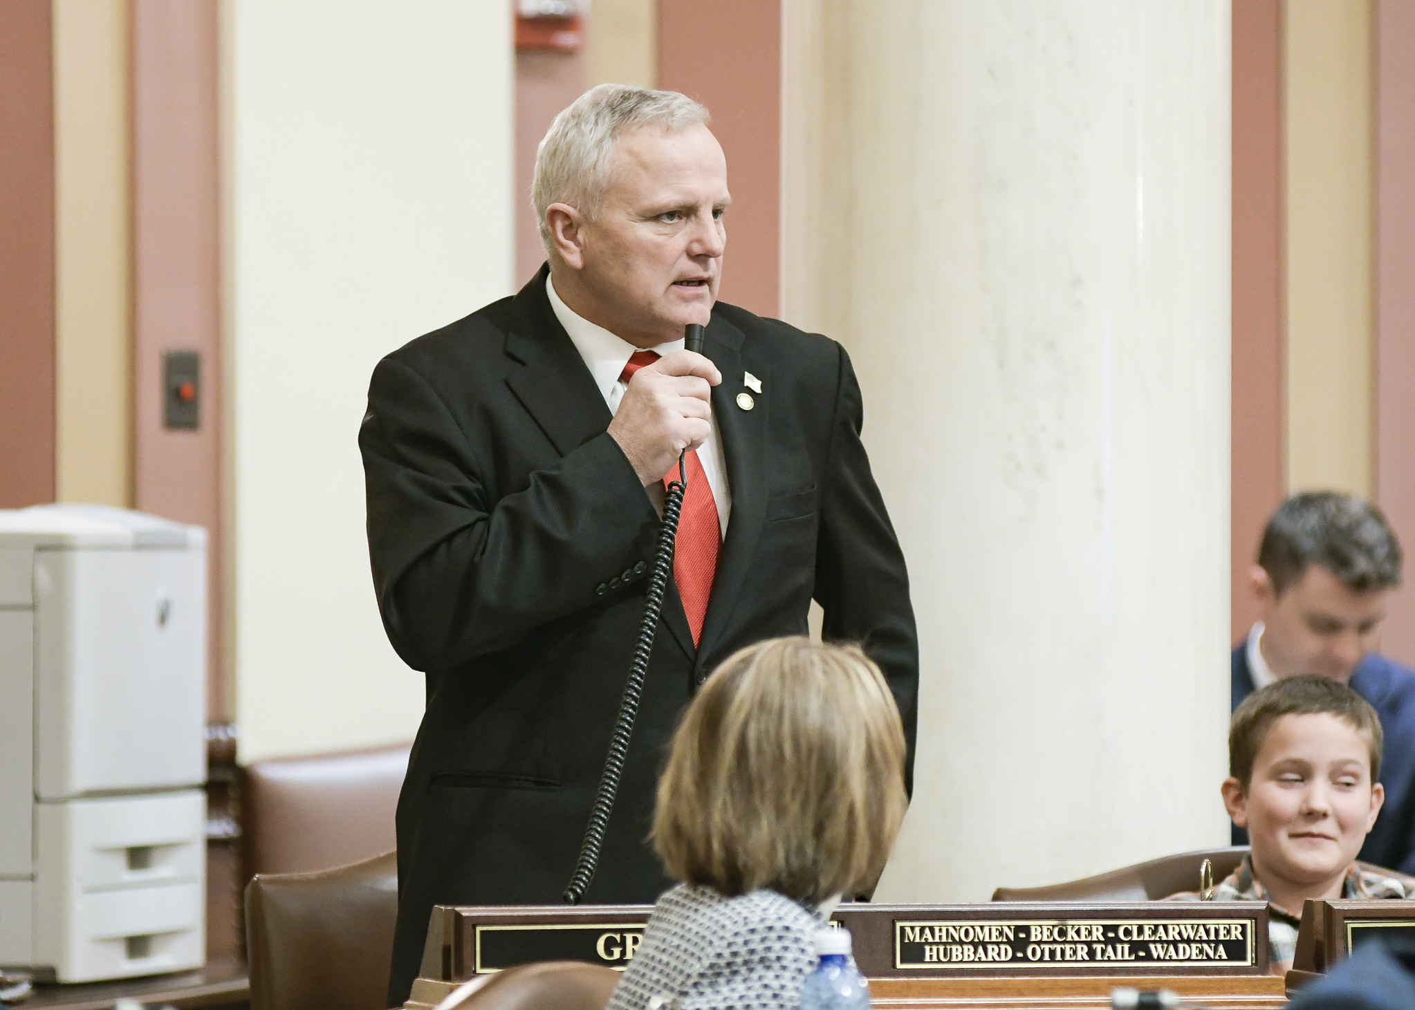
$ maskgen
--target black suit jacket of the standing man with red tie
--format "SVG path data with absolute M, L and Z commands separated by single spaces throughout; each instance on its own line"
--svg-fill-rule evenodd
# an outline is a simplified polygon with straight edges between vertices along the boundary
M 393 648 L 427 676 L 398 808 L 395 1006 L 434 904 L 560 901 L 644 608 L 640 563 L 659 519 L 545 276 L 381 361 L 359 433 L 378 604 Z M 807 634 L 812 597 L 825 635 L 862 642 L 884 671 L 913 764 L 914 617 L 849 358 L 726 304 L 705 352 L 723 375 L 712 405 L 727 536 L 700 648 L 669 583 L 586 902 L 652 902 L 668 887 L 644 839 L 676 719 L 736 649 Z M 749 371 L 761 392 L 743 410 Z

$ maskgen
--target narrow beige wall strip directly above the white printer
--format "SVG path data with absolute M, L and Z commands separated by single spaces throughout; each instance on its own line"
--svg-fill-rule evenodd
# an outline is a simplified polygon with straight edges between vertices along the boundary
M 54 0 L 55 497 L 132 502 L 125 0 Z

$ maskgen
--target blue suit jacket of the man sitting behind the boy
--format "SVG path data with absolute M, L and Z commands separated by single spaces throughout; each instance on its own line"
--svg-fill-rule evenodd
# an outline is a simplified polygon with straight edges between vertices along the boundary
M 1415 874 L 1415 673 L 1385 656 L 1368 652 L 1351 673 L 1351 689 L 1381 717 L 1385 748 L 1380 781 L 1385 805 L 1365 836 L 1363 863 Z M 1232 707 L 1254 692 L 1248 645 L 1232 652 Z M 1248 844 L 1248 832 L 1234 825 L 1234 844 Z

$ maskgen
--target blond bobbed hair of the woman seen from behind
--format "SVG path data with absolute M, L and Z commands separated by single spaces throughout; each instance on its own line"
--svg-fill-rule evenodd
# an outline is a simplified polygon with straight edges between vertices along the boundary
M 688 706 L 649 839 L 669 876 L 726 895 L 867 893 L 908 803 L 904 755 L 899 709 L 860 649 L 760 642 Z

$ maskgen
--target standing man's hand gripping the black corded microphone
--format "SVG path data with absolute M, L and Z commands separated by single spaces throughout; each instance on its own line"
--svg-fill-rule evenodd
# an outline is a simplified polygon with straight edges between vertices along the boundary
M 708 441 L 709 393 L 719 382 L 717 368 L 692 351 L 665 355 L 630 378 L 610 436 L 645 488 L 664 480 L 679 453 Z

